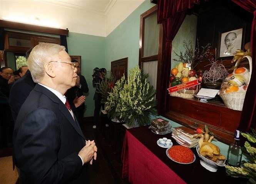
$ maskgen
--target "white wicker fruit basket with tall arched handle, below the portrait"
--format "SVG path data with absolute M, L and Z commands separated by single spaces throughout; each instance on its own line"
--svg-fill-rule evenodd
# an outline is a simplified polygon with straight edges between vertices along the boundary
M 238 65 L 241 61 L 249 61 L 249 70 Z M 219 96 L 224 104 L 229 108 L 237 111 L 242 111 L 244 104 L 244 97 L 246 94 L 247 86 L 250 82 L 252 71 L 251 56 L 241 56 L 234 66 L 233 73 L 223 81 Z

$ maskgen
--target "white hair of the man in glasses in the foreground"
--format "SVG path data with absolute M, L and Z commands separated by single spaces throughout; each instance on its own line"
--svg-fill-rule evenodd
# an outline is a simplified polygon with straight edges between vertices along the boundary
M 56 61 L 57 55 L 62 50 L 65 51 L 65 46 L 55 43 L 40 43 L 32 49 L 28 56 L 27 65 L 35 83 L 39 83 L 44 78 L 45 63 Z

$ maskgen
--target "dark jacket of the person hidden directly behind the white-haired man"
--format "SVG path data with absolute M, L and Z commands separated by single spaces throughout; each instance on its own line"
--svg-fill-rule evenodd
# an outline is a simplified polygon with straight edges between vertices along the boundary
M 22 78 L 13 83 L 9 95 L 9 105 L 12 110 L 12 118 L 14 122 L 18 116 L 20 107 L 27 99 L 28 94 L 33 90 L 34 87 L 35 83 L 32 80 L 32 76 L 29 70 L 27 70 L 26 74 Z

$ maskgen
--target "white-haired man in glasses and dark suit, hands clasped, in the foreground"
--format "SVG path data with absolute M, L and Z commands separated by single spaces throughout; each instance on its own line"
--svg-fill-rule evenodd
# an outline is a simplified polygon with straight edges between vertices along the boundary
M 64 93 L 75 85 L 76 68 L 65 47 L 40 43 L 28 57 L 37 83 L 23 103 L 13 133 L 15 165 L 25 184 L 86 183 L 86 164 L 97 157 L 85 141 Z

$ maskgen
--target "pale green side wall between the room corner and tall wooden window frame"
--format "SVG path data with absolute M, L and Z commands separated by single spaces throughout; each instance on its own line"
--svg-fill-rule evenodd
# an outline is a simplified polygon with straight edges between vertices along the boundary
M 120 25 L 106 37 L 105 65 L 111 67 L 111 61 L 128 57 L 129 70 L 139 64 L 140 15 L 155 4 L 143 2 Z

